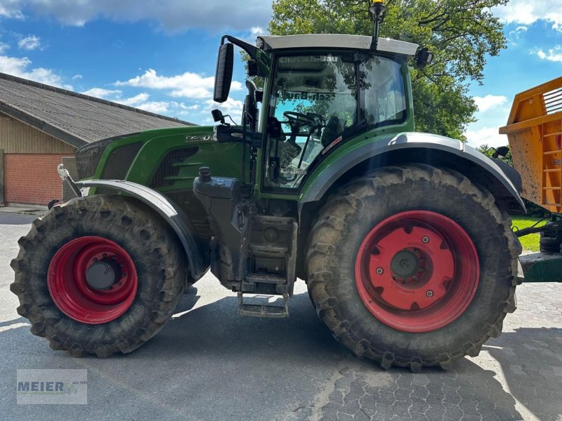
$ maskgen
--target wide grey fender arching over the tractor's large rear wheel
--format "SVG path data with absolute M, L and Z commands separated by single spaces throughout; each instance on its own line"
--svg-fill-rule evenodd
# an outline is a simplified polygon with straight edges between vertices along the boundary
M 521 186 L 518 173 L 502 171 L 494 160 L 459 140 L 429 133 L 400 133 L 362 142 L 344 154 L 334 153 L 334 158 L 328 157 L 328 160 L 320 166 L 318 175 L 311 177 L 303 187 L 301 203 L 319 201 L 330 187 L 351 178 L 354 168 L 370 171 L 380 166 L 415 162 L 459 171 L 489 189 L 498 201 L 506 203 L 509 213 L 525 213 L 523 199 L 516 188 L 516 185 Z

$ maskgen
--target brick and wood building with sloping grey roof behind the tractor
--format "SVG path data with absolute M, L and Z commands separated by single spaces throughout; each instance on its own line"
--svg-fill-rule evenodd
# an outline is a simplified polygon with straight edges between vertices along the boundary
M 0 206 L 60 199 L 56 166 L 77 147 L 185 125 L 190 123 L 0 73 Z

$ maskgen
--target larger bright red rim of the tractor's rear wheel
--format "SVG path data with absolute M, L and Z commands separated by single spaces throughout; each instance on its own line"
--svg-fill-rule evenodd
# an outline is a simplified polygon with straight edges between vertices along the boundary
M 363 239 L 355 260 L 362 302 L 379 321 L 411 333 L 455 321 L 480 278 L 476 247 L 455 221 L 427 210 L 386 218 Z

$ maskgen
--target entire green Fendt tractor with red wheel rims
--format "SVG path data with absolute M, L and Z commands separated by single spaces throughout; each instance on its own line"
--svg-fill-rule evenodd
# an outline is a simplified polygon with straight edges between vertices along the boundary
M 247 316 L 288 316 L 302 279 L 334 338 L 383 368 L 448 368 L 497 337 L 516 308 L 521 179 L 414 133 L 408 65 L 431 53 L 379 39 L 384 3 L 371 11 L 374 36 L 223 36 L 214 99 L 234 46 L 263 78 L 240 125 L 215 111 L 217 126 L 78 149 L 79 180 L 59 166 L 78 197 L 34 221 L 11 264 L 32 333 L 73 356 L 132 352 L 210 268 Z

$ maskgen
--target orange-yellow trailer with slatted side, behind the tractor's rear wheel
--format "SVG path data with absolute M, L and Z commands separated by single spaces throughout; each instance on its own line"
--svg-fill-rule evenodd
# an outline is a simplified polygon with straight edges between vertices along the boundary
M 552 213 L 544 227 L 517 233 L 541 234 L 541 253 L 520 258 L 525 281 L 562 282 L 562 77 L 518 93 L 499 133 L 509 139 L 521 196 Z

